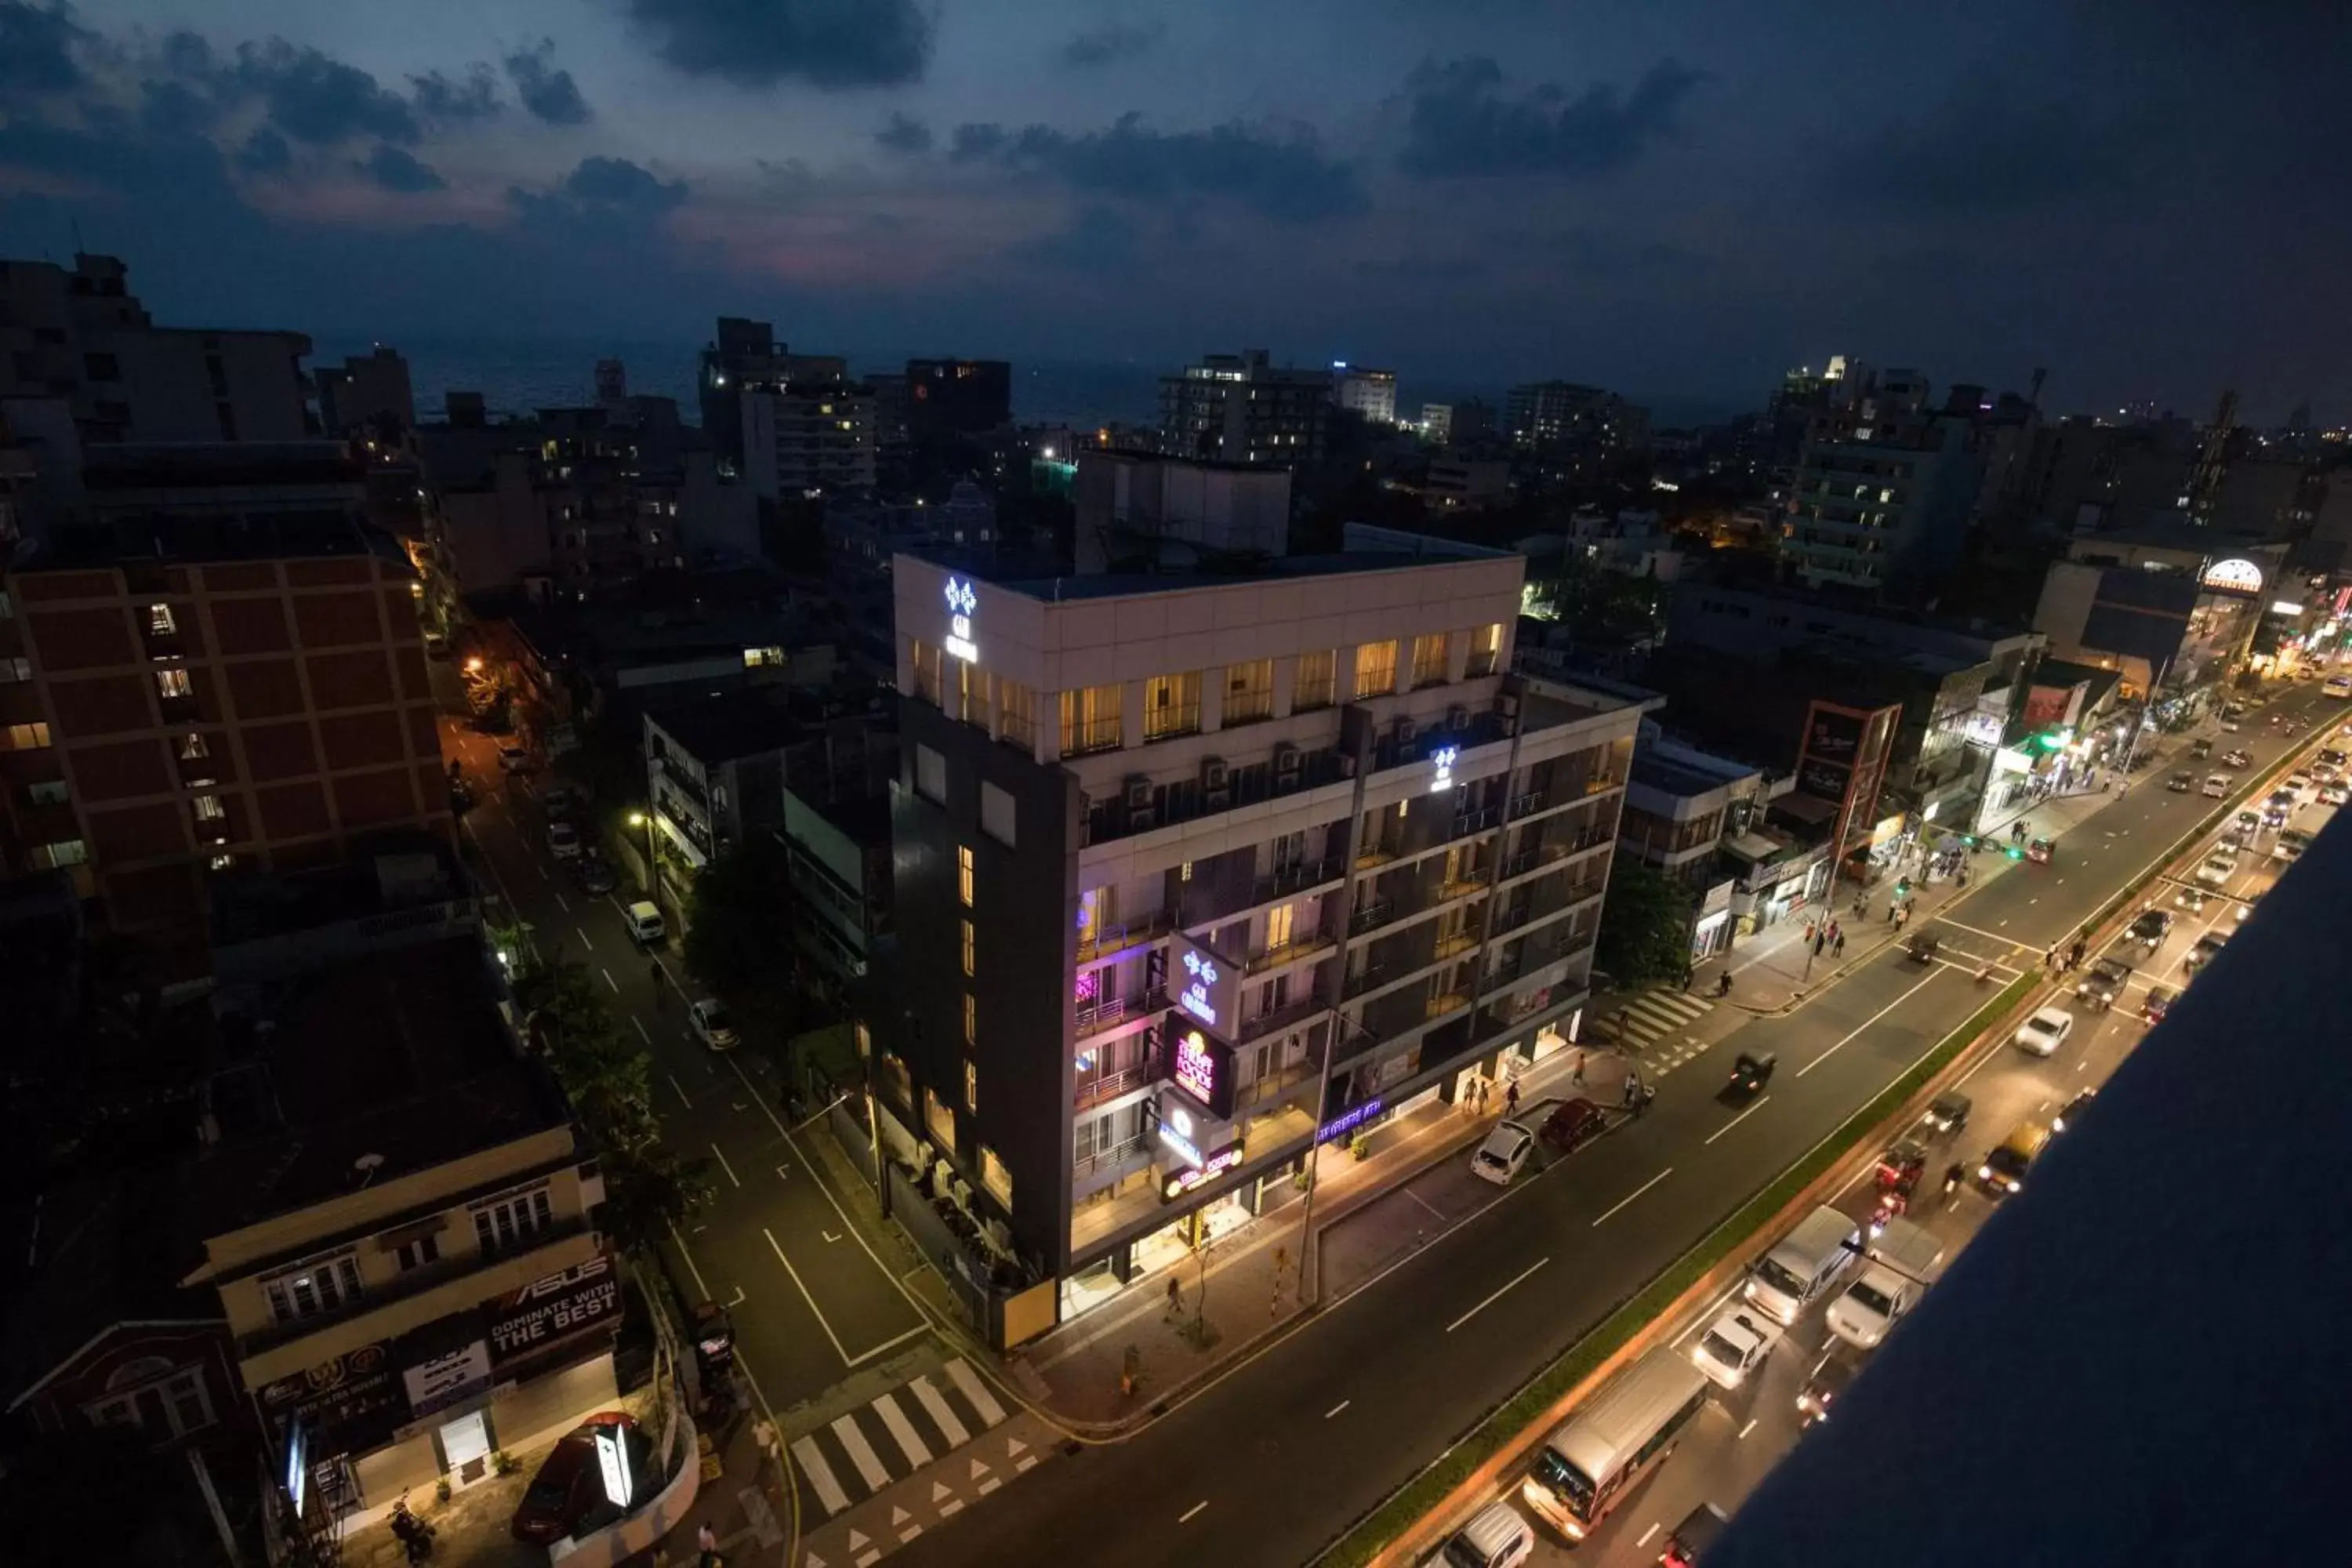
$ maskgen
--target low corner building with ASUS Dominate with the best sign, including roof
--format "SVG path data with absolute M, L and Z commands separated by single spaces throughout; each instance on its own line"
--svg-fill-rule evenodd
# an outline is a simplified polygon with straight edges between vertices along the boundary
M 306 1528 L 461 1488 L 616 1399 L 602 1175 L 477 931 L 240 985 L 183 1173 L 270 1479 Z

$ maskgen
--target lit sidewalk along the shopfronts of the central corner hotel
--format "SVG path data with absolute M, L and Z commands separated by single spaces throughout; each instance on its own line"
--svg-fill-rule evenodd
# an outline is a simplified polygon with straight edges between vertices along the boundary
M 1571 1086 L 1578 1056 L 1585 1058 L 1590 1088 Z M 1548 1103 L 1571 1093 L 1592 1093 L 1611 1105 L 1625 1065 L 1611 1051 L 1555 1051 L 1519 1074 L 1519 1119 L 1534 1126 Z M 1256 1342 L 1296 1326 L 1305 1312 L 1338 1300 L 1475 1213 L 1475 1206 L 1454 1211 L 1432 1204 L 1406 1182 L 1470 1150 L 1501 1119 L 1503 1095 L 1491 1098 L 1482 1114 L 1465 1105 L 1432 1103 L 1374 1128 L 1362 1157 L 1350 1154 L 1345 1140 L 1327 1143 L 1317 1154 L 1312 1246 L 1303 1246 L 1308 1215 L 1298 1187 L 1284 1185 L 1279 1194 L 1268 1190 L 1265 1213 L 1171 1265 L 1150 1274 L 1138 1269 L 1115 1300 L 1016 1349 L 1007 1359 L 1007 1375 L 1061 1420 L 1089 1427 L 1141 1422 L 1150 1406 L 1176 1389 L 1232 1363 Z M 1472 1187 L 1479 1201 L 1498 1197 L 1484 1182 Z M 1416 1225 L 1381 1225 L 1374 1227 L 1378 1237 L 1355 1244 L 1350 1232 L 1357 1227 L 1350 1222 L 1390 1197 L 1406 1199 Z M 1174 1307 L 1169 1279 L 1178 1286 Z M 1120 1387 L 1129 1356 L 1138 1373 L 1134 1394 Z

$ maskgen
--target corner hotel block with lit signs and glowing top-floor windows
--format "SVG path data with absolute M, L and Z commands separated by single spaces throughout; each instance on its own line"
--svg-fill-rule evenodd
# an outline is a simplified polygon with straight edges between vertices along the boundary
M 1510 675 L 1519 557 L 1383 543 L 1256 576 L 896 562 L 875 1103 L 1061 1316 L 1319 1143 L 1576 1034 L 1642 708 Z

